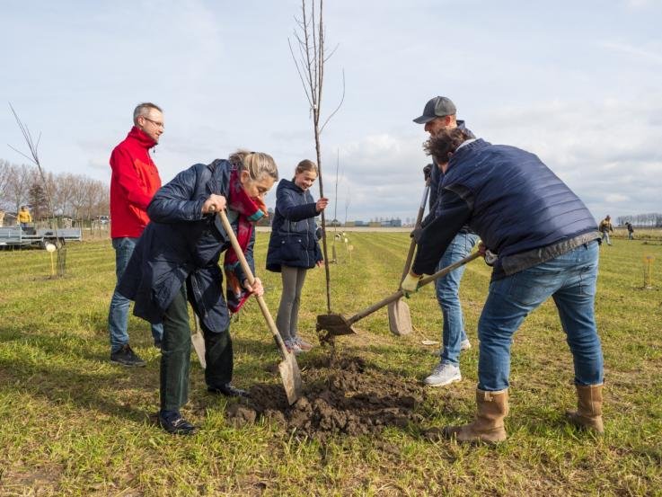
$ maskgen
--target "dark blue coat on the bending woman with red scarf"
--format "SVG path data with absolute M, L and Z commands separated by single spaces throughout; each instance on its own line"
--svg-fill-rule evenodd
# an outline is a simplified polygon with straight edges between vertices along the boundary
M 138 317 L 161 323 L 165 309 L 188 279 L 188 297 L 202 322 L 216 333 L 228 328 L 230 316 L 218 260 L 231 244 L 220 219 L 203 215 L 202 205 L 212 193 L 228 198 L 232 168 L 222 159 L 195 164 L 154 195 L 147 208 L 151 222 L 119 282 L 119 293 L 136 301 L 134 314 Z M 236 234 L 237 215 L 232 210 L 227 215 Z M 245 251 L 252 271 L 254 242 L 253 230 Z M 235 274 L 239 281 L 245 279 L 240 266 Z

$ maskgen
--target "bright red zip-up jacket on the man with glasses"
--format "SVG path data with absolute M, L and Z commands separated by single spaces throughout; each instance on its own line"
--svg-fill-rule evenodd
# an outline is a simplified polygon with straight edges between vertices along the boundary
M 110 236 L 137 238 L 149 222 L 147 205 L 161 188 L 161 178 L 149 156 L 156 142 L 135 126 L 110 155 Z

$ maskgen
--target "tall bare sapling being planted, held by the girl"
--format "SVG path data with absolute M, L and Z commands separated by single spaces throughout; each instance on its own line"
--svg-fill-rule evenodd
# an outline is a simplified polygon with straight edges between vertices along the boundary
M 310 4 L 310 5 L 309 5 Z M 317 169 L 319 172 L 320 197 L 324 196 L 322 184 L 322 148 L 320 135 L 329 120 L 340 109 L 345 99 L 345 73 L 342 74 L 342 96 L 335 111 L 332 111 L 326 120 L 321 123 L 322 117 L 322 86 L 324 83 L 324 63 L 331 58 L 335 49 L 326 54 L 323 23 L 323 0 L 301 1 L 301 17 L 296 18 L 298 29 L 295 30 L 296 50 L 291 40 L 287 39 L 289 50 L 295 61 L 296 72 L 299 74 L 301 84 L 304 86 L 305 97 L 310 105 L 313 116 L 313 132 L 315 138 L 315 151 L 317 153 Z M 337 47 L 336 47 L 337 48 Z M 295 53 L 296 52 L 296 53 Z M 331 313 L 331 278 L 329 275 L 329 256 L 326 244 L 326 217 L 322 210 L 322 250 L 324 253 L 324 271 L 326 275 L 326 306 Z

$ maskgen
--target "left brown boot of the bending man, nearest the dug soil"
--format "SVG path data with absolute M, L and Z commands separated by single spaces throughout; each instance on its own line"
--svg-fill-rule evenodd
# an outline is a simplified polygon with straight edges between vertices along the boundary
M 458 442 L 497 443 L 508 438 L 503 419 L 508 416 L 508 388 L 499 392 L 476 389 L 476 419 L 462 426 L 446 426 L 446 438 Z

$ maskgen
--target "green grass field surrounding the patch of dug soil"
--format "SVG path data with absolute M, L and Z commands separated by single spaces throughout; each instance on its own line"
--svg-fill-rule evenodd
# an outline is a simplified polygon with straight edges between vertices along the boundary
M 332 306 L 351 315 L 393 292 L 409 244 L 405 233 L 351 233 L 331 265 Z M 279 276 L 257 267 L 275 312 Z M 644 257 L 652 289 L 643 287 Z M 201 430 L 172 437 L 154 426 L 159 353 L 147 324 L 131 318 L 131 342 L 146 368 L 110 364 L 106 315 L 114 285 L 110 242 L 69 244 L 67 275 L 49 279 L 49 254 L 0 252 L 0 495 L 662 495 L 662 245 L 616 239 L 601 248 L 596 314 L 605 351 L 605 429 L 596 439 L 569 428 L 571 357 L 552 302 L 515 335 L 509 439 L 496 448 L 432 442 L 430 427 L 474 412 L 476 323 L 490 268 L 472 262 L 463 279 L 467 332 L 463 381 L 424 390 L 420 422 L 376 435 L 299 439 L 278 423 L 235 428 L 227 401 L 207 395 L 195 358 L 184 413 Z M 301 332 L 326 312 L 323 271 L 308 273 Z M 385 310 L 339 340 L 338 353 L 366 359 L 418 384 L 436 363 L 440 312 L 431 288 L 409 301 L 415 332 L 395 337 Z M 278 354 L 258 306 L 233 324 L 237 386 L 278 384 Z M 304 379 L 321 347 L 299 357 Z

